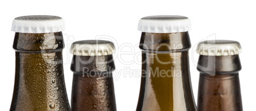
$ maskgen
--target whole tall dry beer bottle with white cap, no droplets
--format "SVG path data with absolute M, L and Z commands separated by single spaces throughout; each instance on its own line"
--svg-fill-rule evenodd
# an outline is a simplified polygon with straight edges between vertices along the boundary
M 197 110 L 190 82 L 191 29 L 185 16 L 146 16 L 142 32 L 142 77 L 137 111 Z

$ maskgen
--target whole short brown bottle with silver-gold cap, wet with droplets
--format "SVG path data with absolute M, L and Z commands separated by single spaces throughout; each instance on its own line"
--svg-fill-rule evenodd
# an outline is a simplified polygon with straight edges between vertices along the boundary
M 115 91 L 112 54 L 115 46 L 110 41 L 88 40 L 73 42 L 73 86 L 71 110 L 115 111 Z

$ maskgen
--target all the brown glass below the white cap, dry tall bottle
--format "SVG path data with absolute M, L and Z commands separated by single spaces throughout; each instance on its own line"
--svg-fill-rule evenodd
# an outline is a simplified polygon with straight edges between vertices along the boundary
M 187 32 L 143 33 L 141 37 L 141 43 L 148 48 L 140 46 L 143 64 L 137 110 L 196 110 L 190 82 Z

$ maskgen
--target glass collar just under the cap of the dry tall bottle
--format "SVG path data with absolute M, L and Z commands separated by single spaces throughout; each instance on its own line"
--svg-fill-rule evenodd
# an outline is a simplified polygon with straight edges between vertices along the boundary
M 143 51 L 175 53 L 190 49 L 188 32 L 148 33 L 142 32 L 139 48 Z

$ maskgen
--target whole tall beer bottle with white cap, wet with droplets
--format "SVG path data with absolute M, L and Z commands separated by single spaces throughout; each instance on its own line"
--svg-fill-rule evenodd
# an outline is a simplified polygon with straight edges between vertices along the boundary
M 62 65 L 64 20 L 20 16 L 11 30 L 16 68 L 10 110 L 71 110 Z

